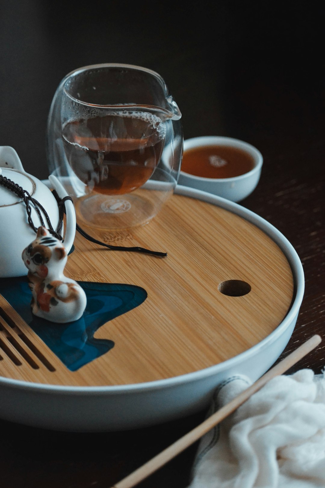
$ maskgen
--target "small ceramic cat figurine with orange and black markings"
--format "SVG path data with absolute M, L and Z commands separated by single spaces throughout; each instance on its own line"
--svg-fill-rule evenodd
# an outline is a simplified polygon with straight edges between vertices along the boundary
M 38 227 L 35 241 L 21 257 L 28 269 L 33 314 L 61 324 L 78 320 L 87 299 L 81 286 L 63 274 L 68 259 L 64 245 L 45 227 Z

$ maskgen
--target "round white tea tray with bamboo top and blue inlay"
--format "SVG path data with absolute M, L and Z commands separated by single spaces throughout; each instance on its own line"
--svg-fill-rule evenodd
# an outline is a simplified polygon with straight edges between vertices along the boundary
M 287 345 L 302 264 L 276 228 L 237 203 L 178 186 L 150 224 L 85 230 L 168 256 L 111 251 L 77 233 L 65 270 L 89 294 L 77 329 L 28 324 L 2 293 L 2 419 L 71 431 L 165 422 L 207 407 L 233 374 L 255 381 Z

